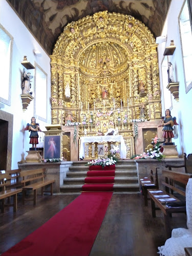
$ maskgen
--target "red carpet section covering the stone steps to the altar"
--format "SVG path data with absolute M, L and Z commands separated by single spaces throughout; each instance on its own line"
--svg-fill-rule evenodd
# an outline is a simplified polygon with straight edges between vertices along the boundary
M 115 170 L 92 170 L 87 176 L 82 191 L 113 191 Z

